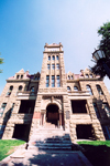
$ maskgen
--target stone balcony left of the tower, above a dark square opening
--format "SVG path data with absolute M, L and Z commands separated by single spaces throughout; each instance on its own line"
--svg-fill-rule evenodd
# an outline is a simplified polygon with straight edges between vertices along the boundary
M 16 98 L 18 100 L 35 100 L 36 98 L 36 93 L 31 92 L 31 91 L 21 91 L 16 93 Z

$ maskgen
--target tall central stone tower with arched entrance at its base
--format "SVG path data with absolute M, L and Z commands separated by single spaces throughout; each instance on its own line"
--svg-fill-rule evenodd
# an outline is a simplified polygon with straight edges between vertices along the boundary
M 69 131 L 69 106 L 62 43 L 45 44 L 33 127 L 54 124 Z M 33 129 L 32 129 L 33 131 Z

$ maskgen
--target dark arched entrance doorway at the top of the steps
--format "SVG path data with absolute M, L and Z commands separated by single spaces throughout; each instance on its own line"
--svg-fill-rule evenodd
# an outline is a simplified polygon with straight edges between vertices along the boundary
M 59 113 L 56 104 L 51 104 L 46 107 L 46 123 L 55 124 L 58 126 Z

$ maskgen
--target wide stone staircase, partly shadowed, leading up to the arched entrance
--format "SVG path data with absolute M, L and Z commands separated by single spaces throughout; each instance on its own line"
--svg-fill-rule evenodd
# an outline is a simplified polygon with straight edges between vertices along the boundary
M 72 151 L 72 142 L 67 132 L 47 123 L 44 127 L 34 129 L 28 149 Z

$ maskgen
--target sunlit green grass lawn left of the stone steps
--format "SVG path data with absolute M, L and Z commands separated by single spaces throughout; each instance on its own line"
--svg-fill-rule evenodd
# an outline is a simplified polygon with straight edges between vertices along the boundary
M 24 144 L 24 141 L 0 139 L 0 160 L 14 152 L 15 146 Z

